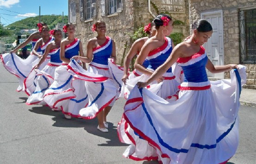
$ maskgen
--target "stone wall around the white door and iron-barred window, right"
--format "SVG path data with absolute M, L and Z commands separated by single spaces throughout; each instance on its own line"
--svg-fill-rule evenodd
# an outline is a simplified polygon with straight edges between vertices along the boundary
M 255 0 L 189 0 L 190 24 L 200 19 L 202 12 L 223 11 L 224 64 L 239 64 L 239 8 L 256 6 Z M 247 66 L 246 88 L 256 89 L 255 64 Z M 225 77 L 230 78 L 225 72 Z

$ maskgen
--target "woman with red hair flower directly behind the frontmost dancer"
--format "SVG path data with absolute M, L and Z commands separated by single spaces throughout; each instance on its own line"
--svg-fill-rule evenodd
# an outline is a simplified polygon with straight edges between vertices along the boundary
M 166 59 L 170 56 L 174 47 L 173 42 L 170 38 L 165 35 L 170 35 L 172 31 L 172 20 L 168 15 L 159 15 L 154 19 L 156 23 L 156 35 L 151 37 L 142 47 L 141 53 L 138 55 L 135 62 L 135 68 L 140 72 L 146 73 L 138 76 L 134 79 L 127 81 L 125 86 L 126 93 L 136 86 L 138 81 L 145 81 Z M 151 68 L 144 68 L 143 61 L 147 58 Z M 180 73 L 179 75 L 180 76 Z M 158 83 L 159 82 L 159 83 Z M 159 95 L 164 100 L 175 101 L 178 99 L 178 86 L 179 82 L 175 80 L 175 76 L 172 73 L 172 68 L 166 71 L 158 82 L 153 82 L 147 88 L 153 93 Z M 126 95 L 127 95 L 126 94 Z M 124 130 L 125 129 L 125 130 Z M 148 144 L 148 141 L 141 139 L 129 124 L 122 118 L 118 124 L 118 135 L 121 142 L 131 144 L 126 149 L 124 156 L 136 160 L 150 160 L 157 159 L 156 149 Z M 138 146 L 139 145 L 139 146 Z M 143 149 L 141 148 L 143 147 Z

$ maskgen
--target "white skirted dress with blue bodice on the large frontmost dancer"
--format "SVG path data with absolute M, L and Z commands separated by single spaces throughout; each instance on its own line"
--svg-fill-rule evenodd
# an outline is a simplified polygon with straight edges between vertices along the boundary
M 246 67 L 231 70 L 230 80 L 210 82 L 203 47 L 191 57 L 178 59 L 184 71 L 179 99 L 168 102 L 146 88 L 134 87 L 125 104 L 123 119 L 135 131 L 132 149 L 144 149 L 136 137 L 156 149 L 163 164 L 225 164 L 238 146 L 238 108 Z M 129 133 L 127 126 L 122 127 Z M 135 147 L 134 147 L 135 146 Z M 139 149 L 138 148 L 138 149 Z M 125 152 L 126 153 L 126 152 Z M 129 154 L 146 159 L 147 154 Z M 129 157 L 129 156 L 128 156 Z

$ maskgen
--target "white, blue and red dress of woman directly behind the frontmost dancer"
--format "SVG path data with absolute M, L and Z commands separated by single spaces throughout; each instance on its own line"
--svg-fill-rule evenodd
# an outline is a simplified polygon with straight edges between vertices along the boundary
M 159 47 L 148 55 L 147 59 L 150 62 L 150 67 L 148 70 L 154 71 L 160 65 L 162 65 L 166 59 L 169 57 L 172 51 L 172 44 L 170 38 L 165 38 L 165 43 L 162 47 Z M 153 68 L 153 69 L 152 69 Z M 179 72 L 180 76 L 180 72 Z M 175 101 L 178 99 L 178 86 L 179 82 L 175 80 L 175 76 L 172 73 L 172 68 L 170 68 L 164 75 L 164 80 L 161 83 L 152 82 L 148 88 L 152 93 L 155 93 L 162 97 L 164 100 Z M 137 82 L 145 82 L 149 76 L 141 75 L 136 78 L 129 80 L 126 83 L 125 88 L 127 93 L 136 86 Z M 133 129 L 129 124 L 122 118 L 118 125 L 118 135 L 121 142 L 131 144 L 129 148 L 126 149 L 124 156 L 134 160 L 154 160 L 158 159 L 156 149 L 149 145 L 148 141 L 143 140 L 139 136 L 135 135 Z

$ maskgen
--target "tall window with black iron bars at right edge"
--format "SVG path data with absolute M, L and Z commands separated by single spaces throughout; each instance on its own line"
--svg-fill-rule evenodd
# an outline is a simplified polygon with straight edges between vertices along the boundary
M 256 9 L 239 12 L 240 63 L 256 64 Z

